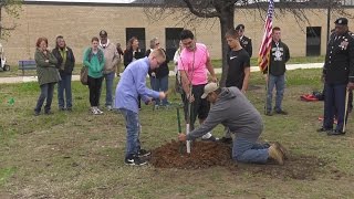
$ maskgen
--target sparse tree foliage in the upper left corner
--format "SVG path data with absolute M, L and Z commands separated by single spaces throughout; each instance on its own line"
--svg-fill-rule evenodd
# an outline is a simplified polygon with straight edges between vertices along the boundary
M 21 4 L 22 0 L 0 0 L 0 39 L 7 39 L 15 29 L 14 19 L 20 17 Z

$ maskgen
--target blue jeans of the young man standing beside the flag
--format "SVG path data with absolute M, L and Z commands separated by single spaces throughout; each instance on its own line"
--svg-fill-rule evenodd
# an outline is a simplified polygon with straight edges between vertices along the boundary
M 282 111 L 281 103 L 283 101 L 284 88 L 285 88 L 285 75 L 274 76 L 269 74 L 268 77 L 268 91 L 267 91 L 267 107 L 266 111 L 270 113 L 272 111 L 272 98 L 273 98 L 273 90 L 277 90 L 275 96 L 275 106 L 274 111 Z

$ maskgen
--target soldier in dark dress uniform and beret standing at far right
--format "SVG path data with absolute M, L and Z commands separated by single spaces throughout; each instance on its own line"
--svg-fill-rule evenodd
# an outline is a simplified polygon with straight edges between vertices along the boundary
M 344 135 L 346 90 L 354 87 L 354 39 L 348 33 L 347 19 L 335 20 L 335 31 L 327 43 L 322 80 L 325 82 L 324 119 L 317 132 Z M 333 108 L 334 107 L 334 108 Z M 333 129 L 333 118 L 337 125 Z

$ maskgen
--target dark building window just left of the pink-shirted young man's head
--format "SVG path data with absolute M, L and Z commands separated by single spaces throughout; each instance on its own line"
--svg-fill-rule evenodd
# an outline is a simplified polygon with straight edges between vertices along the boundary
M 179 33 L 183 28 L 166 28 L 166 55 L 169 60 L 174 59 L 176 50 L 179 48 Z

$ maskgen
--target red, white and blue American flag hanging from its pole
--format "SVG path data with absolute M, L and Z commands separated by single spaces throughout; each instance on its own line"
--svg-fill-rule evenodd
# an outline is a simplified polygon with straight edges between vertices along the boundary
M 258 64 L 259 69 L 263 72 L 270 60 L 270 49 L 272 43 L 272 28 L 273 28 L 273 12 L 274 12 L 274 1 L 269 0 L 267 20 L 264 24 L 264 34 L 262 39 L 261 46 L 259 49 Z

